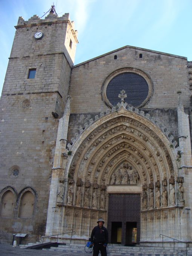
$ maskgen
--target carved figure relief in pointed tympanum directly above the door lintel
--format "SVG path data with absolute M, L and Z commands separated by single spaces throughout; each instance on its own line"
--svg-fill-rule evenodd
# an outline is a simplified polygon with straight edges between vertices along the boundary
M 111 175 L 110 184 L 116 185 L 137 185 L 139 184 L 139 174 L 128 163 L 123 163 Z

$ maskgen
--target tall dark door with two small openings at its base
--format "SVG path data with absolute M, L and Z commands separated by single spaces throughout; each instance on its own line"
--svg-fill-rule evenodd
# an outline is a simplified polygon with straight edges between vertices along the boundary
M 109 194 L 108 232 L 113 244 L 139 244 L 140 194 Z

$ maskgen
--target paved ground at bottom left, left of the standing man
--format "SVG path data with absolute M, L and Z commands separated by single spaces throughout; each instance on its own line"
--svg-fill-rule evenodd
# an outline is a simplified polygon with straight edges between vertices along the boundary
M 58 251 L 46 251 L 46 250 L 29 250 L 21 249 L 19 247 L 12 247 L 12 245 L 0 244 L 0 256 L 87 256 L 91 254 L 81 253 L 65 253 Z

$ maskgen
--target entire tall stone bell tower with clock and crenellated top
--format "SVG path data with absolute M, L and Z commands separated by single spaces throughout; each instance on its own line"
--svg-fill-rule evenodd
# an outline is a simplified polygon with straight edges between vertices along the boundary
M 0 101 L 0 239 L 7 241 L 12 233 L 44 234 L 58 118 L 78 43 L 69 14 L 58 17 L 53 6 L 44 19 L 19 17 L 15 28 Z

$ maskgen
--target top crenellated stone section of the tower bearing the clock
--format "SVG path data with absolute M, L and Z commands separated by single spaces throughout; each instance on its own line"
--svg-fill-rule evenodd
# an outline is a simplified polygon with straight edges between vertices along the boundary
M 44 19 L 34 15 L 27 21 L 19 17 L 18 24 L 15 27 L 17 31 L 15 32 L 11 51 L 12 58 L 15 56 L 37 56 L 65 52 L 66 34 L 69 34 L 72 41 L 76 43 L 77 32 L 74 30 L 74 23 L 69 19 L 69 14 L 64 14 L 59 18 L 56 15 L 49 14 Z M 37 31 L 43 33 L 41 40 L 35 40 L 34 38 Z M 69 54 L 71 58 L 74 58 L 75 53 L 69 52 Z

